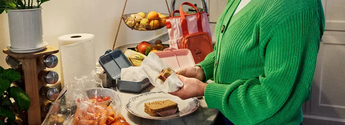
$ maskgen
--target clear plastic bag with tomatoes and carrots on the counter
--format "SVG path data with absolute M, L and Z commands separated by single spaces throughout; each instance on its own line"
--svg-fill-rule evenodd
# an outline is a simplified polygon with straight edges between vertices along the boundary
M 95 71 L 65 84 L 42 124 L 129 124 L 121 115 L 121 94 L 103 88 Z M 49 107 L 48 107 L 49 108 Z

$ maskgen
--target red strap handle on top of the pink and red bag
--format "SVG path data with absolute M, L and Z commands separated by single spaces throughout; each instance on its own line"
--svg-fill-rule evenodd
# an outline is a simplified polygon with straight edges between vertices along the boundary
M 197 30 L 199 32 L 202 32 L 203 30 L 202 30 L 201 16 L 200 16 L 199 10 L 197 10 L 197 8 L 192 3 L 190 3 L 190 2 L 183 2 L 181 4 L 181 6 L 179 6 L 179 12 L 181 12 L 180 15 L 181 15 L 181 27 L 182 27 L 183 36 L 188 35 L 189 32 L 188 32 L 187 20 L 185 19 L 185 15 L 187 15 L 187 14 L 183 11 L 182 5 L 189 5 L 189 6 L 193 7 L 196 10 L 196 12 L 197 12 Z

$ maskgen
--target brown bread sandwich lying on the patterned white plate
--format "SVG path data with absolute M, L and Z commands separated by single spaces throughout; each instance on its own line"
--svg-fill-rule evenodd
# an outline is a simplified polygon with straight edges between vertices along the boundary
M 157 112 L 161 112 L 161 111 L 165 111 L 169 109 L 178 108 L 177 103 L 173 102 L 172 100 L 159 100 L 159 101 L 147 102 L 147 103 L 144 103 L 144 107 L 150 113 L 157 113 Z

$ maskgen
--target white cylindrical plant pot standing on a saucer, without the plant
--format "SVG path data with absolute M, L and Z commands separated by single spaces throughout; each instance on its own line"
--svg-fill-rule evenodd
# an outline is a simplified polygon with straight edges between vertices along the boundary
M 10 48 L 29 49 L 43 45 L 42 8 L 9 9 Z

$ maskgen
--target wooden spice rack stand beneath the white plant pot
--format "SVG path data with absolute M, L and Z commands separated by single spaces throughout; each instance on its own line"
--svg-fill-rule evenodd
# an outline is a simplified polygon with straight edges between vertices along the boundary
M 45 67 L 37 64 L 37 57 L 57 52 L 58 49 L 51 46 L 46 46 L 41 51 L 31 53 L 13 53 L 7 48 L 3 49 L 3 53 L 20 60 L 22 63 L 25 92 L 31 100 L 30 108 L 27 111 L 27 123 L 24 124 L 41 124 L 41 118 L 44 118 L 46 115 L 42 113 L 40 108 L 45 99 L 39 96 L 40 87 L 46 85 L 46 83 L 38 80 L 38 73 L 45 69 Z

